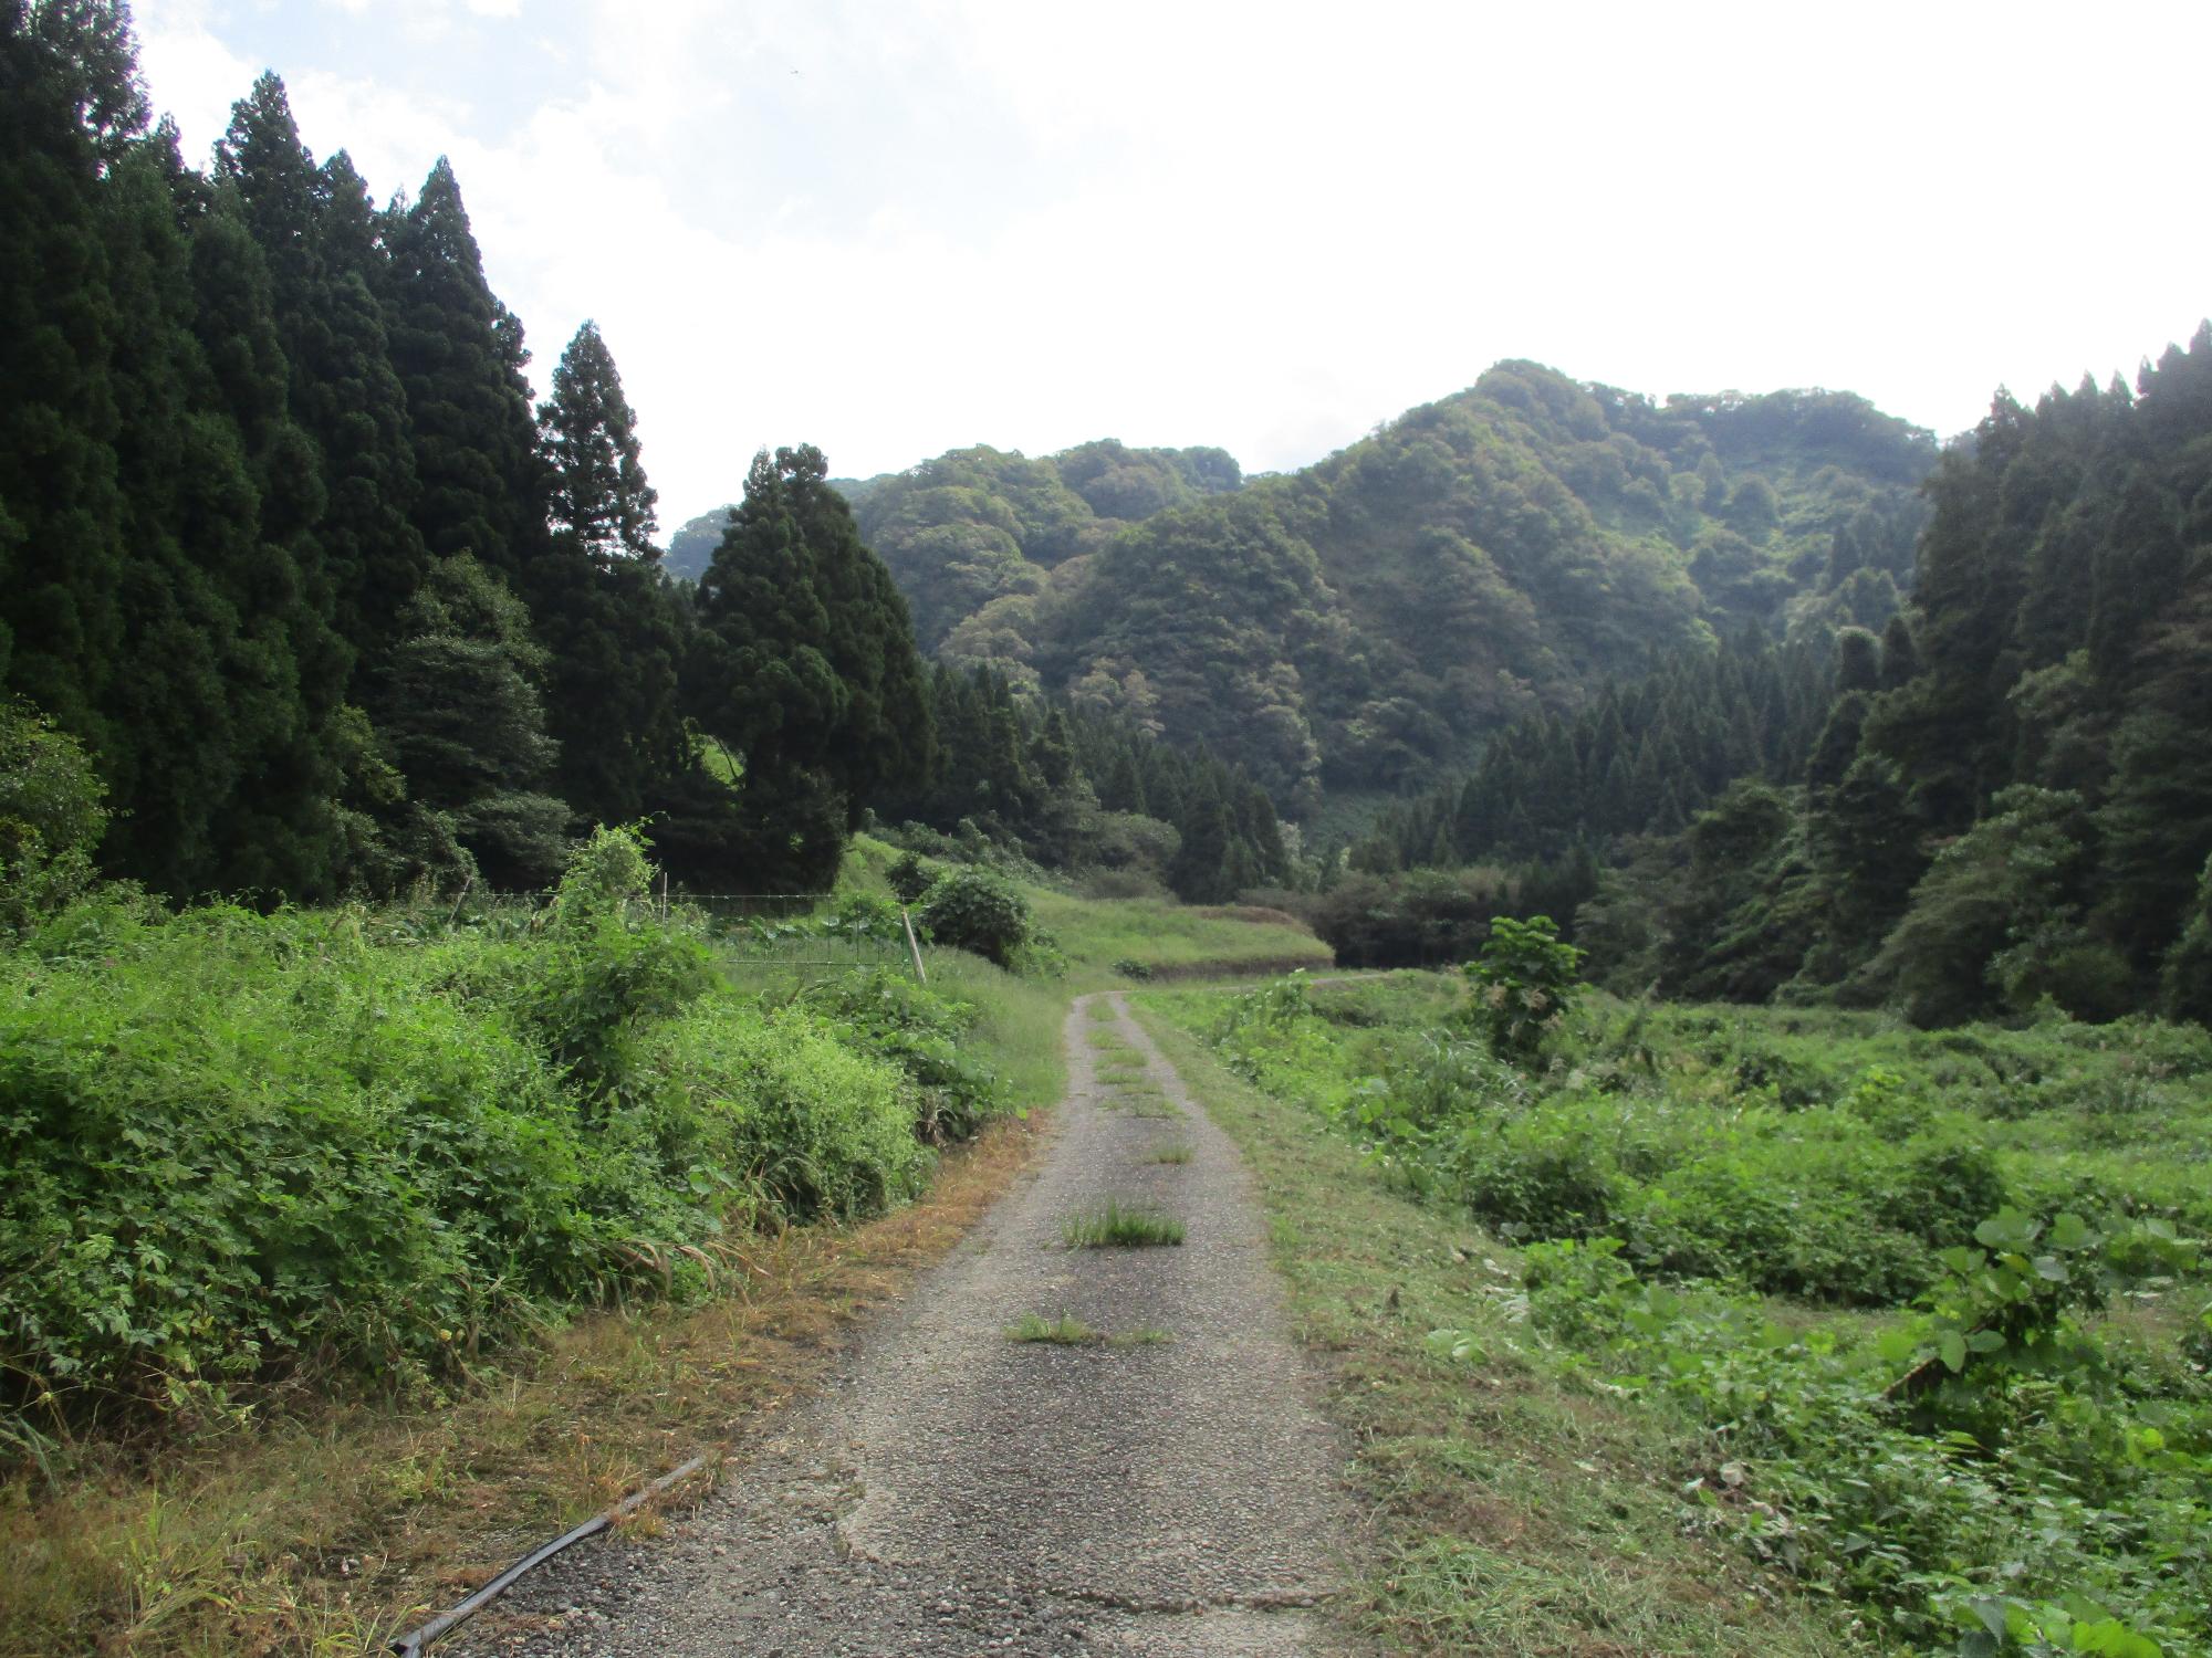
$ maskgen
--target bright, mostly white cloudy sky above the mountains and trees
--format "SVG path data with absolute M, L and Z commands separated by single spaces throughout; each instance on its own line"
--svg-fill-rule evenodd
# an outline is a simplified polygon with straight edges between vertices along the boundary
M 206 161 L 263 69 L 449 155 L 546 385 L 597 321 L 661 526 L 1088 438 L 1290 471 L 1500 358 L 1949 436 L 2212 312 L 2212 7 L 137 0 Z

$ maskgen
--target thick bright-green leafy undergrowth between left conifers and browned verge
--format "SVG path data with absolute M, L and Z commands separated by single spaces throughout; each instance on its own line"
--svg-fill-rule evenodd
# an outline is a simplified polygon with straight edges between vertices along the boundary
M 697 1293 L 732 1227 L 911 1196 L 1009 1108 L 973 1008 L 889 975 L 763 1008 L 648 880 L 602 829 L 531 917 L 35 922 L 0 955 L 0 1421 L 434 1397 L 568 1307 Z

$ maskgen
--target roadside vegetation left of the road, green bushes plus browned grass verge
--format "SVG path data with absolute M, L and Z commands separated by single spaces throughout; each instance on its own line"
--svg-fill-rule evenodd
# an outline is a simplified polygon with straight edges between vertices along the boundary
M 927 986 L 810 977 L 664 911 L 630 831 L 544 904 L 170 911 L 75 856 L 97 794 L 38 752 L 0 951 L 7 1658 L 354 1654 L 743 1439 L 1026 1161 L 1068 997 L 1144 948 L 1064 900 L 1062 955 L 991 875 L 1044 946 L 1020 973 L 925 922 Z M 902 951 L 896 858 L 856 840 L 770 931 Z

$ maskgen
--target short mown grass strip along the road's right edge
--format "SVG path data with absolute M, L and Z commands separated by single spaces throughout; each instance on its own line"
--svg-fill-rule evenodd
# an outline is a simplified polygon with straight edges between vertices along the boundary
M 1190 997 L 1203 1024 L 1219 997 Z M 1159 1032 L 1252 1165 L 1298 1340 L 1329 1355 L 1329 1415 L 1356 1446 L 1352 1483 L 1376 1556 L 1340 1616 L 1394 1649 L 1491 1654 L 1867 1651 L 1847 1614 L 1778 1596 L 1683 1530 L 1677 1461 L 1703 1444 L 1544 1368 L 1511 1262 L 1447 1211 L 1391 1192 L 1354 1143 L 1294 1103 Z M 1467 1362 L 1429 1333 L 1473 1326 Z M 1449 1346 L 1444 1349 L 1449 1353 Z M 1480 1351 L 1480 1357 L 1478 1357 Z

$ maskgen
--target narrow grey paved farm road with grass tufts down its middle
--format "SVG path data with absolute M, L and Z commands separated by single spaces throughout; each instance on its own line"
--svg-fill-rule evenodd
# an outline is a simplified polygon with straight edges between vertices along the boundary
M 1091 1017 L 1097 999 L 1068 1012 L 1068 1094 L 1040 1169 L 838 1379 L 672 1536 L 575 1550 L 500 1607 L 549 1623 L 456 1645 L 549 1658 L 1343 1651 L 1314 1607 L 1338 1585 L 1352 1528 L 1345 1452 L 1290 1342 L 1250 1176 L 1121 997 L 1104 997 L 1110 1019 Z M 1157 1161 L 1175 1145 L 1188 1163 Z M 1183 1220 L 1186 1242 L 1064 1247 L 1066 1218 L 1106 1198 Z M 1024 1313 L 1170 1340 L 1006 1340 Z

